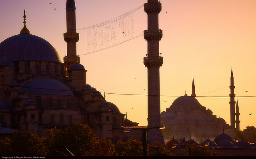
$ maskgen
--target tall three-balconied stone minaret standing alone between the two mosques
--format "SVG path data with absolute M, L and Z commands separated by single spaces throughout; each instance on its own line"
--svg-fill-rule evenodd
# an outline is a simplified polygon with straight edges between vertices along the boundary
M 144 11 L 148 14 L 148 29 L 144 31 L 144 39 L 148 42 L 147 57 L 144 57 L 144 65 L 148 68 L 148 128 L 161 124 L 159 68 L 163 64 L 163 57 L 159 56 L 159 41 L 163 34 L 158 28 L 158 14 L 161 10 L 162 4 L 158 0 L 148 0 L 144 4 Z M 164 143 L 161 130 L 150 129 L 148 132 L 149 143 Z

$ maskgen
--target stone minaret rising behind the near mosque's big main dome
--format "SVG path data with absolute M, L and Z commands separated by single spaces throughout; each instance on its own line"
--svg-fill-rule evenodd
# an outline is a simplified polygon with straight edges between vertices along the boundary
M 79 33 L 76 33 L 76 5 L 75 0 L 66 2 L 66 23 L 67 32 L 64 33 L 64 41 L 67 43 L 67 56 L 64 63 L 69 67 L 75 63 L 80 63 L 80 57 L 76 55 L 76 42 L 79 40 Z

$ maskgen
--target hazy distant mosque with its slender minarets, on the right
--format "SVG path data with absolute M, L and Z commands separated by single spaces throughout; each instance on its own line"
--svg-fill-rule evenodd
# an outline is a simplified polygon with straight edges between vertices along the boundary
M 162 130 L 164 136 L 176 139 L 192 138 L 198 143 L 205 139 L 214 139 L 223 131 L 235 138 L 235 132 L 240 130 L 238 102 L 234 101 L 234 78 L 231 69 L 230 78 L 230 116 L 231 125 L 226 124 L 223 118 L 217 118 L 212 110 L 206 109 L 196 99 L 194 78 L 192 81 L 192 94 L 178 97 L 166 111 L 161 112 L 161 124 L 166 129 Z M 236 103 L 236 113 L 234 104 Z M 235 117 L 236 116 L 236 120 Z M 236 128 L 234 127 L 236 123 Z M 170 139 L 166 139 L 170 140 Z

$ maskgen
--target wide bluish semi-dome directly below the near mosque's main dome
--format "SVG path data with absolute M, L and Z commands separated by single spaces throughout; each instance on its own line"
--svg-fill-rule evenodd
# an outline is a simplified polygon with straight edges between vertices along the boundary
M 55 79 L 36 79 L 23 86 L 30 95 L 68 95 L 74 96 L 73 92 L 62 82 Z

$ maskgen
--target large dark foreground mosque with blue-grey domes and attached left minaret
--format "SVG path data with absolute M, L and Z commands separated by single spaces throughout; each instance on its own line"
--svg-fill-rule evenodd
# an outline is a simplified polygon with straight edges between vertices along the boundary
M 76 55 L 75 11 L 74 0 L 67 0 L 64 63 L 48 41 L 30 33 L 25 9 L 20 34 L 0 43 L 0 124 L 46 135 L 49 128 L 82 123 L 93 128 L 99 138 L 138 139 L 142 133 L 124 134 L 124 129 L 145 127 L 128 120 L 127 114 L 86 83 L 87 70 Z

